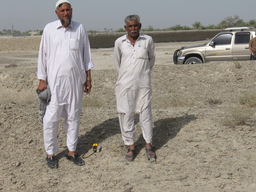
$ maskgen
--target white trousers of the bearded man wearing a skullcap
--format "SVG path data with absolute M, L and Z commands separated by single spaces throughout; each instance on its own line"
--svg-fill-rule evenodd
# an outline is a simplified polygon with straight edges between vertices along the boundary
M 67 147 L 69 151 L 76 151 L 76 145 L 78 140 L 79 123 L 80 121 L 70 121 L 68 120 L 68 104 L 57 106 L 49 103 L 46 107 L 45 116 L 43 118 L 44 126 L 44 148 L 47 155 L 54 154 L 59 151 L 58 148 L 58 130 L 60 124 L 60 117 L 63 113 L 67 116 L 64 121 L 64 127 L 67 134 Z M 49 120 L 49 114 L 54 114 L 54 120 Z M 47 118 L 48 117 L 48 118 Z

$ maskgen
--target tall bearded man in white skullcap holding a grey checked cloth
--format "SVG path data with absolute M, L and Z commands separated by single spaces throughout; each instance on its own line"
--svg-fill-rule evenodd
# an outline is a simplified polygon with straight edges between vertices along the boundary
M 83 93 L 91 91 L 90 44 L 83 25 L 72 19 L 71 4 L 60 0 L 56 4 L 59 20 L 44 28 L 38 55 L 38 91 L 51 90 L 51 101 L 43 118 L 46 164 L 57 168 L 54 153 L 59 151 L 57 136 L 60 118 L 63 117 L 67 133 L 68 154 L 65 157 L 76 165 L 83 159 L 76 154 Z

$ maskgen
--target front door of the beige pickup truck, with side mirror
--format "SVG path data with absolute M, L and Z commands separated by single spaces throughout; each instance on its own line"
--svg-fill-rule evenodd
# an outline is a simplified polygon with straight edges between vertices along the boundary
M 207 62 L 232 61 L 232 33 L 221 33 L 209 42 L 205 49 Z M 210 45 L 211 44 L 211 45 Z

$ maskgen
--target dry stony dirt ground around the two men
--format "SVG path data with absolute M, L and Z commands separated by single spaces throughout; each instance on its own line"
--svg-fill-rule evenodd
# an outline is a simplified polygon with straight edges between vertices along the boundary
M 93 87 L 84 95 L 76 151 L 91 156 L 83 166 L 64 157 L 61 120 L 58 169 L 46 165 L 38 120 L 38 51 L 0 52 L 0 191 L 254 192 L 256 115 L 239 98 L 255 94 L 255 62 L 241 61 L 241 68 L 234 62 L 173 64 L 173 52 L 180 46 L 203 43 L 156 44 L 151 72 L 155 162 L 145 156 L 138 113 L 135 161 L 124 160 L 127 147 L 116 112 L 113 48 L 92 49 Z M 5 68 L 10 65 L 17 67 Z M 244 110 L 252 112 L 244 124 L 224 125 L 234 112 Z M 100 145 L 100 152 L 92 153 L 93 143 Z

